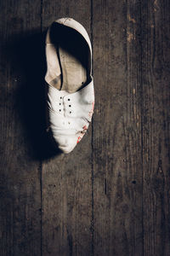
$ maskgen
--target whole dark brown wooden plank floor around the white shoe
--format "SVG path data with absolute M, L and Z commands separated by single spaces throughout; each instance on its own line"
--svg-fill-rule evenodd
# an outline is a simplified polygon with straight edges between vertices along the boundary
M 170 2 L 0 1 L 0 255 L 170 255 Z M 44 133 L 44 35 L 93 44 L 95 111 L 71 154 Z M 69 44 L 69 42 L 68 42 Z

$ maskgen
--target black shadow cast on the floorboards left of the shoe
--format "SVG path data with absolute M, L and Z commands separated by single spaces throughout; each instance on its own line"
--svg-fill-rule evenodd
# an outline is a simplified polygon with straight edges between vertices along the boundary
M 46 160 L 61 151 L 53 141 L 46 124 L 46 32 L 15 35 L 5 46 L 5 54 L 19 77 L 16 110 L 26 129 L 31 157 Z

